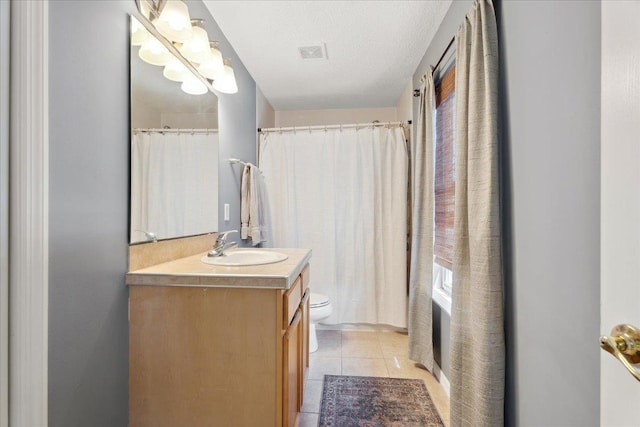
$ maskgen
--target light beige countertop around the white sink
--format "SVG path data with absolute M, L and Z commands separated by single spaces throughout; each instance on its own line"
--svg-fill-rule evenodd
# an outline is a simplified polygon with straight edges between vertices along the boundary
M 131 286 L 191 286 L 289 289 L 311 258 L 310 249 L 260 248 L 282 252 L 284 261 L 227 267 L 205 264 L 206 252 L 130 271 L 126 283 Z

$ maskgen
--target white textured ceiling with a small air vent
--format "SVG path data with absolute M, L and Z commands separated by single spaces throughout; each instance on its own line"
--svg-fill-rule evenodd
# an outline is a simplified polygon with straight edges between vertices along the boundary
M 276 110 L 313 110 L 394 107 L 451 0 L 204 3 Z

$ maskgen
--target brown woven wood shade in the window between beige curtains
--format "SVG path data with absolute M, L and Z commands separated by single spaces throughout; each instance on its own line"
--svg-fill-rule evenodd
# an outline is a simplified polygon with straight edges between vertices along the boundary
M 453 265 L 453 215 L 455 208 L 455 66 L 436 84 L 435 240 L 434 261 Z

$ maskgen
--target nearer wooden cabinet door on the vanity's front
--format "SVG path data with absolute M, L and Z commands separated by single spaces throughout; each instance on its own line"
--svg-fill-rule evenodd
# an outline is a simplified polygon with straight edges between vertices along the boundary
M 298 425 L 298 414 L 302 401 L 300 400 L 301 372 L 301 341 L 302 341 L 302 311 L 296 311 L 289 328 L 282 338 L 283 345 L 283 387 L 282 387 L 282 420 L 283 426 Z

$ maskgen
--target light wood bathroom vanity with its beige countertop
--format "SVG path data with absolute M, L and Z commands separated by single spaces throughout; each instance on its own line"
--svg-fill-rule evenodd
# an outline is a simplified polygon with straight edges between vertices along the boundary
M 269 250 L 269 249 L 265 249 Z M 309 367 L 311 251 L 127 274 L 130 426 L 295 426 Z

